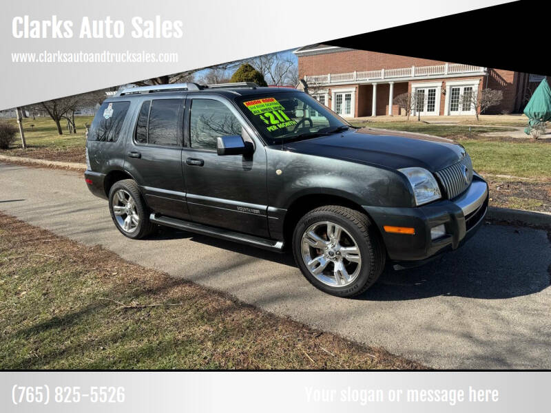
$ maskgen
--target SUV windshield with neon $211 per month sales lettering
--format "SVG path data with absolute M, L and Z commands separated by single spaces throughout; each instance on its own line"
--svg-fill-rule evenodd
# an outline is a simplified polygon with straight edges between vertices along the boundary
M 276 92 L 238 100 L 269 145 L 333 134 L 351 126 L 302 92 Z

